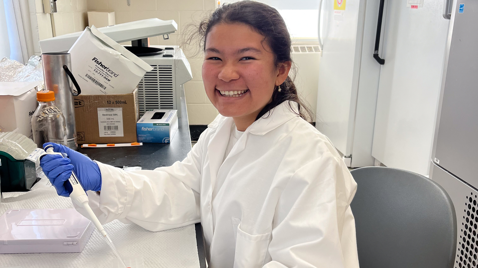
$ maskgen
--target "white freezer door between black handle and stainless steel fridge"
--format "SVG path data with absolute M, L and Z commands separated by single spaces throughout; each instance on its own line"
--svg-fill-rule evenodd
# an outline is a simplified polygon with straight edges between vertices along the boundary
M 386 12 L 372 156 L 428 175 L 449 20 L 442 0 L 389 1 Z

